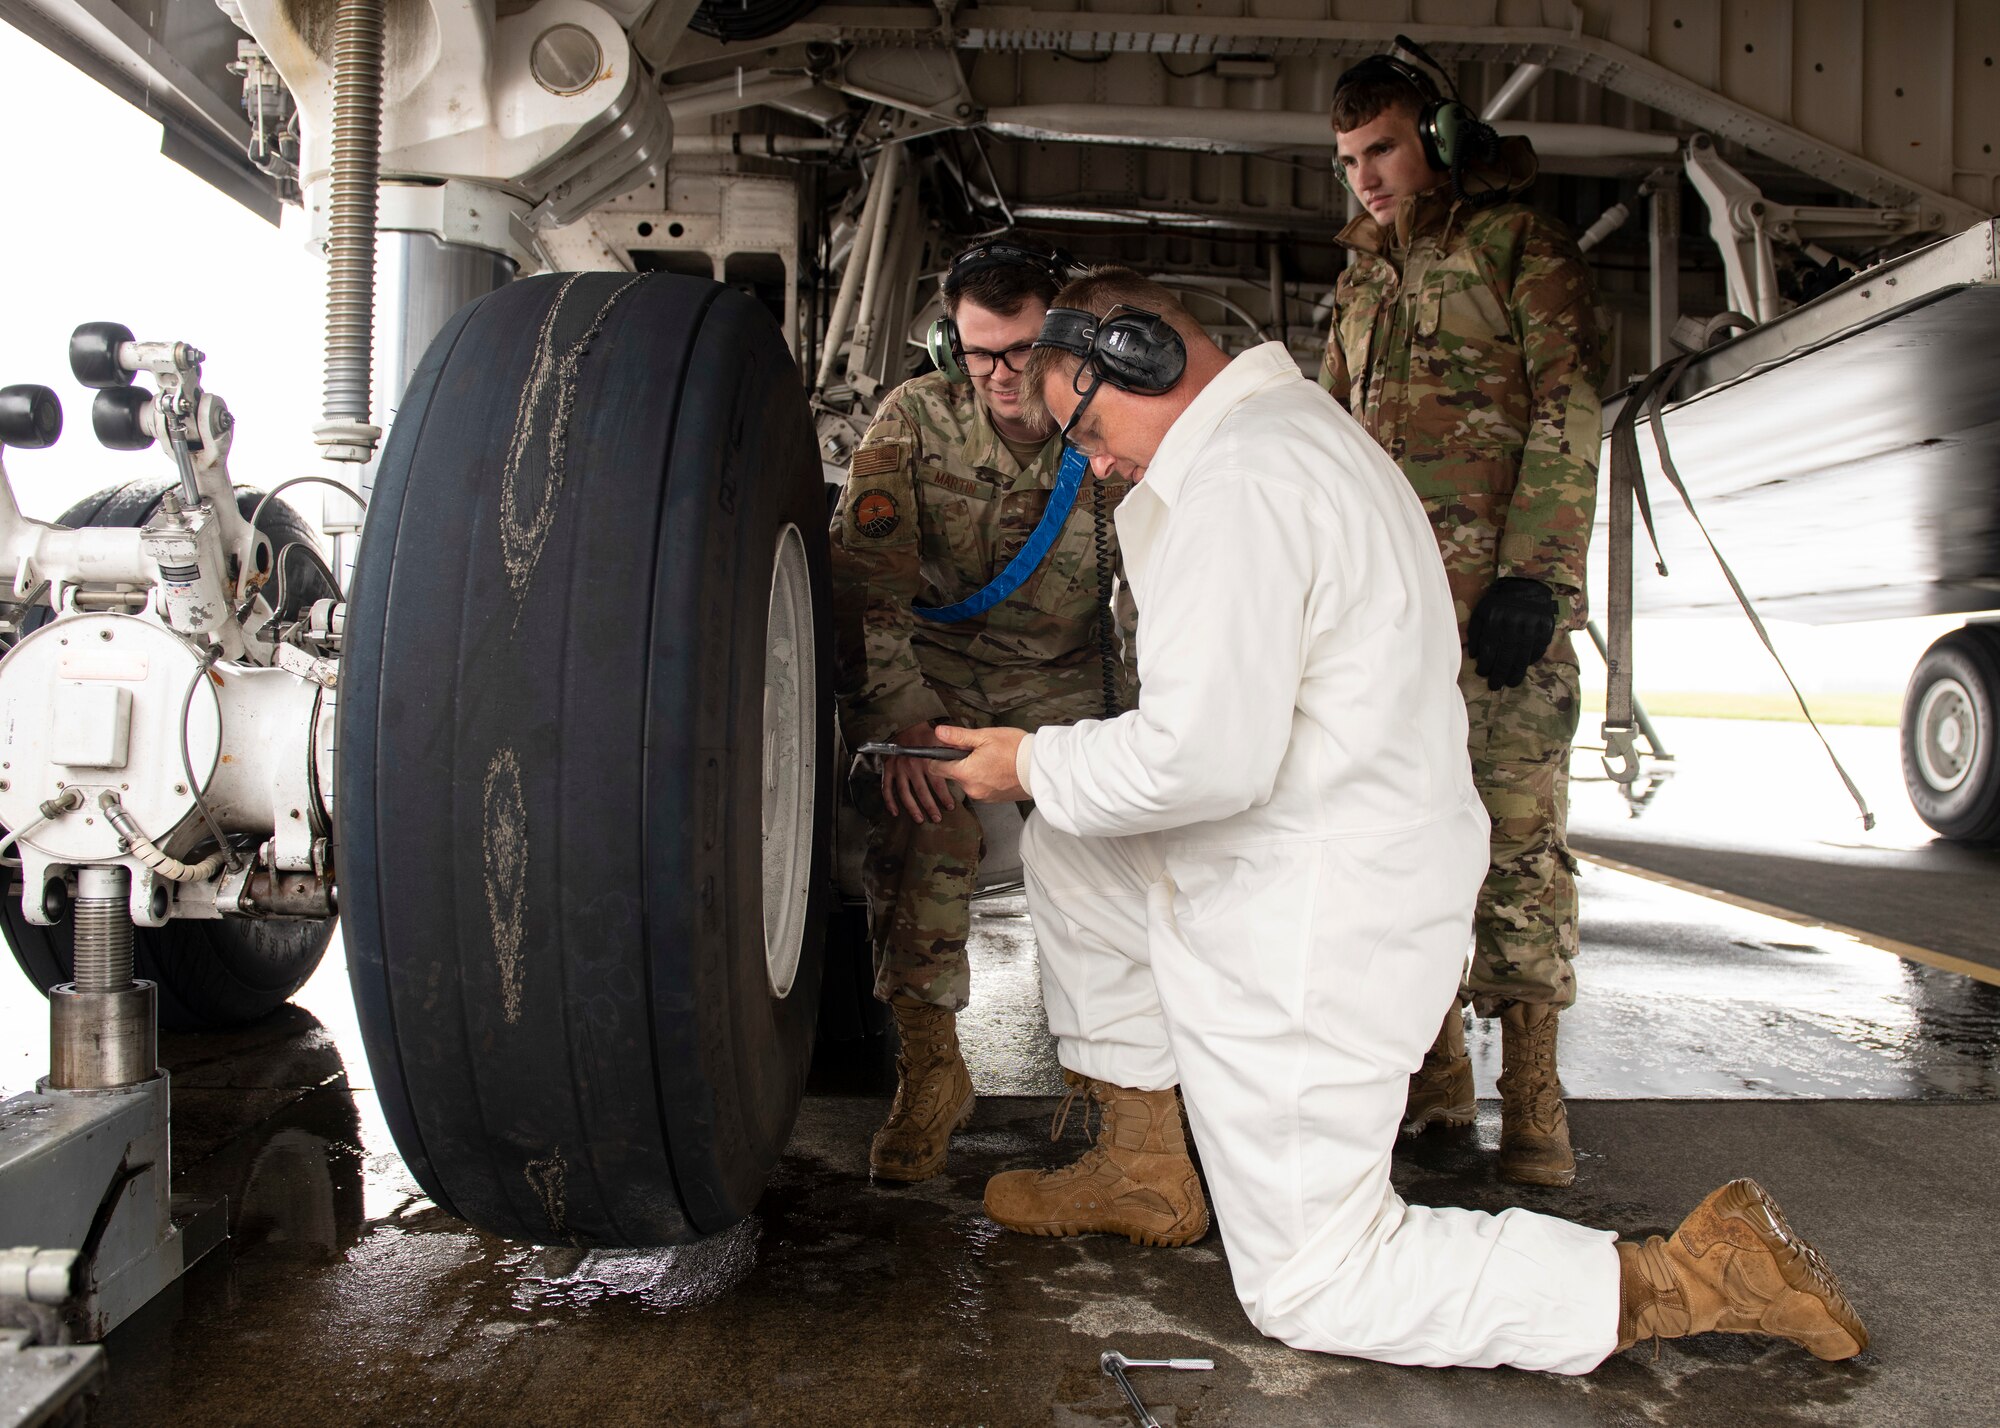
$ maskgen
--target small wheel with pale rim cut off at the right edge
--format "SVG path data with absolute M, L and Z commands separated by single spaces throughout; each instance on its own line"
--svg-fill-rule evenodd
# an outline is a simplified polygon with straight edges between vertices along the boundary
M 1932 644 L 1902 700 L 1902 782 L 1946 838 L 2000 838 L 2000 626 Z

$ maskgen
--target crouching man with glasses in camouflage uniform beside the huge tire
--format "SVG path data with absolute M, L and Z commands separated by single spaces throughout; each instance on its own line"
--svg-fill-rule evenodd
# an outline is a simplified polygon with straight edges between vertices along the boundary
M 1026 364 L 1026 346 L 1058 286 L 1052 276 L 1046 286 L 1038 278 L 968 278 L 956 314 L 966 346 L 974 348 L 970 334 L 978 330 L 1006 332 L 996 340 L 1012 344 L 1018 328 L 1024 336 L 1012 360 Z M 1010 286 L 1028 288 L 1014 314 L 980 302 L 1004 304 Z M 996 316 L 1006 322 L 996 324 Z M 978 374 L 980 358 L 986 376 Z M 946 722 L 1026 730 L 1070 724 L 1118 712 L 1132 698 L 1130 596 L 1118 600 L 1122 636 L 1100 634 L 1104 576 L 1118 574 L 1110 516 L 1128 482 L 1086 474 L 1054 546 L 988 612 L 940 624 L 912 608 L 946 606 L 992 582 L 1040 524 L 1062 460 L 1062 442 L 1046 428 L 1026 440 L 996 428 L 990 392 L 998 384 L 1000 400 L 1008 400 L 1020 382 L 1006 360 L 974 348 L 966 366 L 974 370 L 970 382 L 934 372 L 882 400 L 854 450 L 834 514 L 836 698 L 850 748 L 932 742 L 928 726 Z M 1018 422 L 1008 426 L 1022 430 Z M 904 1046 L 896 1106 L 870 1152 L 874 1172 L 894 1180 L 942 1170 L 948 1136 L 972 1104 L 954 1016 L 970 996 L 966 934 L 984 838 L 972 808 L 946 790 L 948 768 L 926 766 L 934 818 L 922 808 L 924 788 L 916 800 L 902 798 L 900 808 L 894 792 L 884 798 L 884 784 L 894 786 L 888 770 L 878 778 L 856 764 L 850 780 L 868 818 L 874 992 L 896 1012 Z

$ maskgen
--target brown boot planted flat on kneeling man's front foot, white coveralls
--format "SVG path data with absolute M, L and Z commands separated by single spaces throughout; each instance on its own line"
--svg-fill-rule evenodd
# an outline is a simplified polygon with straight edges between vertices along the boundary
M 1180 1096 L 1128 1090 L 1062 1074 L 1050 1140 L 1062 1134 L 1070 1102 L 1088 1094 L 1100 1108 L 1098 1144 L 1062 1170 L 1008 1170 L 986 1182 L 986 1214 L 1022 1234 L 1122 1234 L 1132 1244 L 1194 1244 L 1208 1234 L 1208 1200 L 1188 1160 Z M 1086 1112 L 1088 1120 L 1088 1102 Z

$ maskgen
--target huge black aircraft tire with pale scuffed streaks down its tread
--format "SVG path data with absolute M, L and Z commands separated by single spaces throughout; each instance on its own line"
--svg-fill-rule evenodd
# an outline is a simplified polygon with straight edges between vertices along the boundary
M 798 368 L 752 298 L 526 278 L 418 366 L 354 574 L 336 820 L 374 1086 L 448 1214 L 656 1246 L 762 1194 L 820 992 L 826 580 Z

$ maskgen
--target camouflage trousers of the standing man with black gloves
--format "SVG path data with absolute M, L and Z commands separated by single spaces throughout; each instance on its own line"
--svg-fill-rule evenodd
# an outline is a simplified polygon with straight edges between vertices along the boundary
M 1510 1002 L 1576 1000 L 1576 860 L 1564 834 L 1578 678 L 1570 636 L 1528 666 L 1512 690 L 1488 690 L 1466 660 L 1472 782 L 1494 822 L 1492 866 L 1472 918 L 1466 994 L 1480 1016 Z

